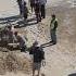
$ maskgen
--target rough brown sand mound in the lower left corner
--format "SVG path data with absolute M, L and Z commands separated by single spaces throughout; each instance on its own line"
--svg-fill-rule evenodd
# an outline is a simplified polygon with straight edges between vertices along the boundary
M 0 74 L 7 72 L 23 72 L 29 74 L 31 72 L 31 61 L 21 52 L 0 52 Z

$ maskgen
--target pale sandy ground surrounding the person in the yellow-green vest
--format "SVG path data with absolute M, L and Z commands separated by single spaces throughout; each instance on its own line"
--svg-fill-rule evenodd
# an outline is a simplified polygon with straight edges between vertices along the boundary
M 53 0 L 52 7 L 47 7 L 47 18 L 41 23 L 30 25 L 27 27 L 17 28 L 17 30 L 26 31 L 29 47 L 33 41 L 38 40 L 39 43 L 46 43 L 50 41 L 49 24 L 51 20 L 51 13 L 55 13 L 59 27 L 58 27 L 58 43 L 45 48 L 47 65 L 41 68 L 41 73 L 46 76 L 68 76 L 72 73 L 76 73 L 76 8 L 73 8 L 73 3 L 60 1 L 59 3 Z M 30 16 L 29 16 L 30 18 Z M 25 53 L 24 53 L 25 54 Z M 31 76 L 23 73 L 7 73 L 1 76 Z

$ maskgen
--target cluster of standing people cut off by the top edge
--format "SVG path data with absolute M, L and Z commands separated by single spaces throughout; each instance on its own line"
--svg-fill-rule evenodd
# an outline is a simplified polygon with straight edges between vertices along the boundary
M 24 0 L 17 0 L 20 7 L 20 14 L 24 16 L 24 20 L 28 16 L 28 9 Z M 47 0 L 29 0 L 31 12 L 35 11 L 37 23 L 41 22 L 41 18 L 46 17 L 46 3 Z

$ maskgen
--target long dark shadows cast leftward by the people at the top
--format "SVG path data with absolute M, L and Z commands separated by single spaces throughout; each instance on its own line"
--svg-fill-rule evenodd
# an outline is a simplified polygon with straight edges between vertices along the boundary
M 14 25 L 16 28 L 21 28 L 21 27 L 26 27 L 26 26 L 30 26 L 30 25 L 35 25 L 37 24 L 37 22 L 35 22 L 36 18 L 28 18 L 27 23 L 24 22 L 23 17 L 21 17 L 20 15 L 14 15 L 14 16 L 10 16 L 10 17 L 2 17 L 0 18 L 0 25 Z M 31 23 L 29 23 L 31 22 Z

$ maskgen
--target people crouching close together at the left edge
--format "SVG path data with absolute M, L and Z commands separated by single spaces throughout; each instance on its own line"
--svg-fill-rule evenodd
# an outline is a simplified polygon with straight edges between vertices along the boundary
M 15 30 L 14 26 L 5 26 L 1 31 L 1 42 L 8 48 L 13 47 L 14 45 L 21 49 L 21 52 L 26 49 L 27 38 Z

